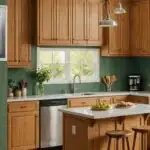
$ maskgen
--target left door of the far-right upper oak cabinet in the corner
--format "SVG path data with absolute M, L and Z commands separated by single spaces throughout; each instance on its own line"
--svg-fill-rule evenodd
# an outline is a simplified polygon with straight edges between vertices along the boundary
M 138 3 L 131 3 L 130 24 L 131 39 L 130 49 L 132 55 L 138 55 L 140 51 L 140 7 Z

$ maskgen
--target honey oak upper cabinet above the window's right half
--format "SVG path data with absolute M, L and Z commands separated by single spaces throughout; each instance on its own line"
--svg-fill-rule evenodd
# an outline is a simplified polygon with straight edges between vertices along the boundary
M 102 45 L 102 28 L 98 26 L 101 18 L 100 0 L 73 0 L 73 44 Z

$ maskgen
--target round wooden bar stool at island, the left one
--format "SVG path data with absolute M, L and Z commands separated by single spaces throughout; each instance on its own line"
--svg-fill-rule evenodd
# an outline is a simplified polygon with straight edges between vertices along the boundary
M 116 139 L 116 142 L 117 142 L 116 150 L 119 150 L 119 139 L 126 139 L 127 149 L 130 150 L 128 137 L 130 135 L 132 135 L 131 131 L 129 131 L 129 130 L 113 130 L 113 131 L 108 131 L 106 133 L 106 135 L 109 137 L 107 150 L 110 150 L 112 138 Z M 123 146 L 122 149 L 124 150 L 124 144 L 122 144 L 122 146 Z

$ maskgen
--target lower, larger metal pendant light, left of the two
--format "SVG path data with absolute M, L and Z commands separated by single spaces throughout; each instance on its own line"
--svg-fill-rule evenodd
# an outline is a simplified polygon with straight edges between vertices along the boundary
M 117 26 L 117 22 L 110 17 L 110 10 L 109 10 L 109 0 L 104 0 L 104 9 L 106 13 L 106 18 L 99 21 L 100 27 L 115 27 Z

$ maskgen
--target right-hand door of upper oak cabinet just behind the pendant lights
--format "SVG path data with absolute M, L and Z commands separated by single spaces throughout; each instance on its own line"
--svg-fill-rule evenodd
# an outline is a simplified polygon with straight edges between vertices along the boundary
M 129 37 L 130 37 L 130 24 L 129 24 L 129 14 L 130 14 L 130 3 L 124 2 L 123 7 L 126 9 L 127 13 L 120 15 L 120 25 L 121 25 L 121 54 L 129 55 Z

